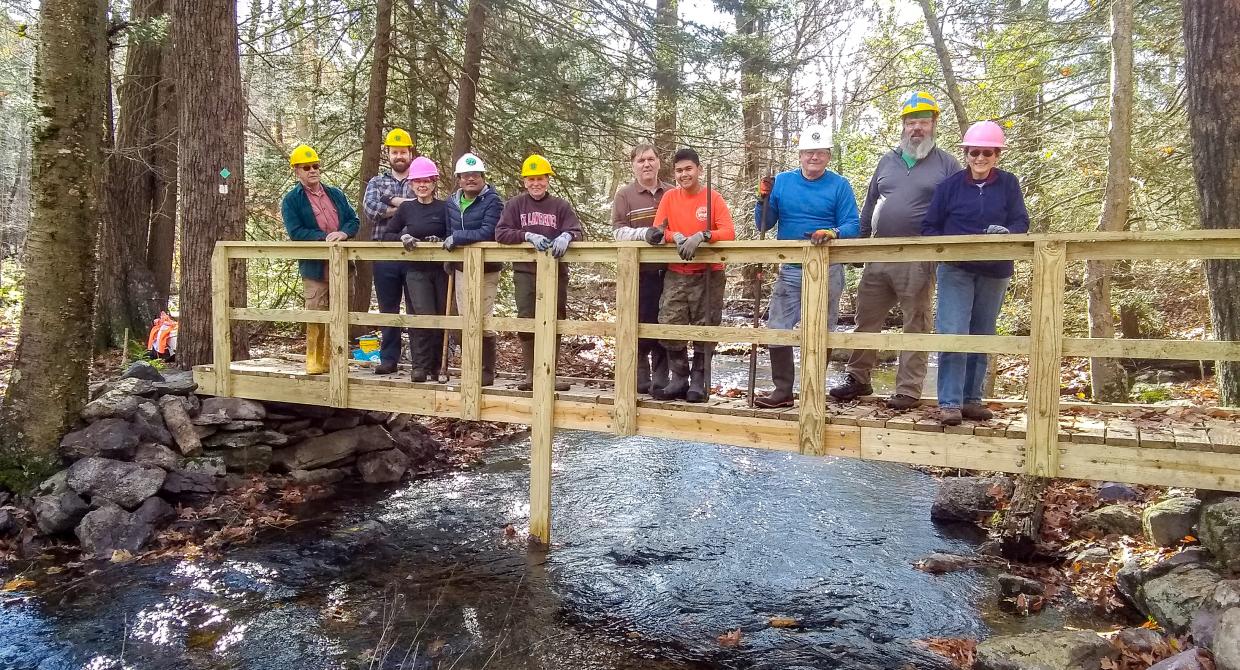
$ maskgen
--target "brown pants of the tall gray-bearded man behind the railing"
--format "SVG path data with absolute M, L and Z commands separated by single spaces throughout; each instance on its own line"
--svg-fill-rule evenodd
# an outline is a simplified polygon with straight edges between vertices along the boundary
M 930 333 L 934 324 L 934 263 L 866 263 L 857 284 L 856 333 L 879 333 L 892 308 L 904 313 L 904 333 Z M 901 351 L 895 375 L 895 392 L 920 398 L 926 376 L 925 351 Z M 847 371 L 869 383 L 878 352 L 858 349 L 848 357 Z

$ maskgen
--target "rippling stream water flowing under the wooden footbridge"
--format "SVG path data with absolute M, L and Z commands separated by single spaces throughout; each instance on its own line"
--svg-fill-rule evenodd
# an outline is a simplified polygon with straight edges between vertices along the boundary
M 915 470 L 562 432 L 542 552 L 503 531 L 527 452 L 358 493 L 332 527 L 381 521 L 365 548 L 305 529 L 0 605 L 0 668 L 942 668 L 913 640 L 987 633 L 981 576 L 913 568 L 976 541 L 929 521 Z

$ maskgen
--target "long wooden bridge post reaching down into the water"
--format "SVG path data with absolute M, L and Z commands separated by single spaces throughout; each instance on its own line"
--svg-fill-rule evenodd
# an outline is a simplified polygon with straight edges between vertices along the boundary
M 529 417 L 529 535 L 551 543 L 551 447 L 556 436 L 556 304 L 559 262 L 538 254 L 534 386 Z M 565 287 L 567 288 L 567 287 Z

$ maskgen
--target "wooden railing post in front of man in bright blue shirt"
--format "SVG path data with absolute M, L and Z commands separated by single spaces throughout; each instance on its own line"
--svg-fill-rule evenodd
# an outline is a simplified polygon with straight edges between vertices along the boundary
M 827 247 L 807 247 L 801 262 L 801 412 L 797 442 L 802 454 L 823 454 L 827 426 Z

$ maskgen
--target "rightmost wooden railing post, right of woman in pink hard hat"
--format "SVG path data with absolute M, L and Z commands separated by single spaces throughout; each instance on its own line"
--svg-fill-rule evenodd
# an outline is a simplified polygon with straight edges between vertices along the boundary
M 1029 326 L 1025 471 L 1059 476 L 1059 365 L 1064 346 L 1064 243 L 1037 242 Z

